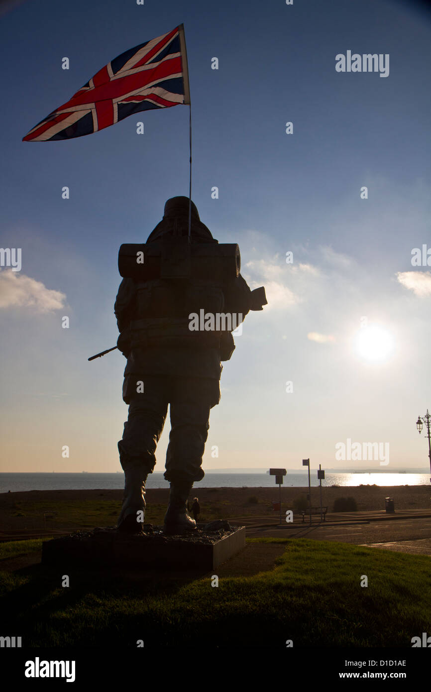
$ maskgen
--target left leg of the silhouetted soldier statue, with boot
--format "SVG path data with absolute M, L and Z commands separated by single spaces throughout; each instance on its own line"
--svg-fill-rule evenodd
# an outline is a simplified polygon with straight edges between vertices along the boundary
M 145 482 L 156 464 L 156 446 L 165 424 L 168 397 L 164 379 L 128 377 L 130 391 L 125 399 L 129 402 L 129 417 L 118 442 L 125 493 L 117 527 L 136 533 L 142 531 L 143 522 L 136 522 L 145 517 Z M 136 392 L 136 381 L 143 381 L 143 392 Z

